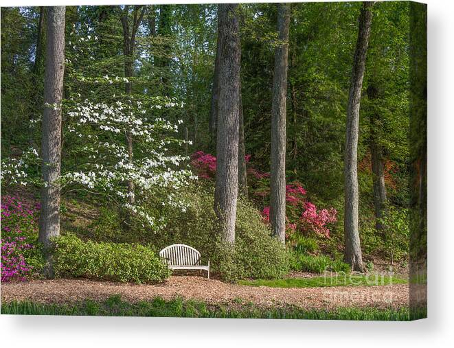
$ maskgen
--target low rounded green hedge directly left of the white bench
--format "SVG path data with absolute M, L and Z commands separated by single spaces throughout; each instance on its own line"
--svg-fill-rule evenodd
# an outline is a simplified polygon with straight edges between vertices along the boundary
M 170 270 L 152 249 L 139 244 L 84 242 L 76 235 L 54 240 L 56 277 L 85 277 L 150 283 L 163 281 Z

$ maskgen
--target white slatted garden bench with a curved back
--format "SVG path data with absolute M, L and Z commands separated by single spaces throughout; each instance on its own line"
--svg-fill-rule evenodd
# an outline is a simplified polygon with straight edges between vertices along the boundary
M 209 260 L 208 266 L 201 265 L 201 255 L 192 246 L 172 244 L 159 251 L 159 256 L 168 261 L 171 270 L 206 270 L 209 279 Z

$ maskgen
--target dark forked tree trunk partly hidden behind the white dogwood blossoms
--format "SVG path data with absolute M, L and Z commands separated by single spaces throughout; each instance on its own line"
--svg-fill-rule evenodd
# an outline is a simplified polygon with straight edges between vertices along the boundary
M 129 6 L 126 5 L 122 11 L 121 21 L 123 27 L 123 53 L 124 53 L 124 76 L 132 78 L 134 75 L 134 52 L 135 52 L 135 36 L 139 25 L 144 17 L 145 6 L 135 5 L 133 9 L 133 23 L 129 25 Z M 130 94 L 132 92 L 131 82 L 125 83 L 125 92 Z M 133 135 L 130 131 L 126 132 L 126 143 L 128 145 L 128 161 L 133 163 Z M 128 200 L 129 204 L 133 205 L 135 202 L 134 196 L 134 182 L 128 181 Z

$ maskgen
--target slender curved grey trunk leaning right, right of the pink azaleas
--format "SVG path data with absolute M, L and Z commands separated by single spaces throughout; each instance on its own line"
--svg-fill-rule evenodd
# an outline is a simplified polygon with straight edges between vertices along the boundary
M 359 32 L 354 51 L 352 79 L 348 95 L 347 128 L 345 135 L 345 215 L 343 229 L 345 234 L 345 262 L 353 270 L 365 272 L 361 242 L 359 240 L 359 189 L 358 189 L 358 135 L 359 108 L 361 89 L 365 70 L 367 45 L 369 45 L 370 27 L 372 25 L 372 5 L 370 1 L 363 2 L 359 16 Z

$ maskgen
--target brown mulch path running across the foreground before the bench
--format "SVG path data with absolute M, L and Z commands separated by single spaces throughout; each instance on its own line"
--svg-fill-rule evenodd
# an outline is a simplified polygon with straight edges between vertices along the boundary
M 40 303 L 73 303 L 84 299 L 105 300 L 120 294 L 124 301 L 137 302 L 162 297 L 196 299 L 209 304 L 254 303 L 262 307 L 295 305 L 299 308 L 337 307 L 401 308 L 408 305 L 406 284 L 390 286 L 339 286 L 330 288 L 269 288 L 239 286 L 215 279 L 172 276 L 161 284 L 124 284 L 86 279 L 34 280 L 3 283 L 1 300 L 30 300 Z

